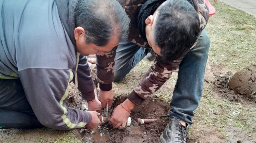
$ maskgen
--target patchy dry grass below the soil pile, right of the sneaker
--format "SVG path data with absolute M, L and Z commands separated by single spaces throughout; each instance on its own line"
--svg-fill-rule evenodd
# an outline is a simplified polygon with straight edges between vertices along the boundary
M 211 90 L 211 83 L 206 83 L 203 98 L 195 111 L 194 123 L 205 125 L 219 130 L 227 137 L 226 129 L 232 124 L 243 130 L 243 134 L 256 137 L 255 123 L 256 110 L 250 103 L 233 103 L 220 98 Z

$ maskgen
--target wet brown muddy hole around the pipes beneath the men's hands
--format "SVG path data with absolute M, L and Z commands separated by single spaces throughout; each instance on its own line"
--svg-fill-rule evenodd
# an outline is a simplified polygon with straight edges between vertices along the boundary
M 114 98 L 110 115 L 117 105 L 122 103 L 127 97 L 119 96 Z M 159 137 L 165 126 L 169 123 L 165 116 L 169 110 L 169 104 L 163 101 L 146 100 L 141 106 L 137 106 L 131 111 L 131 125 L 125 129 L 114 129 L 110 123 L 94 128 L 93 130 L 80 129 L 80 138 L 83 142 L 108 142 L 108 143 L 145 143 L 159 142 Z M 138 125 L 138 118 L 157 119 L 154 123 Z

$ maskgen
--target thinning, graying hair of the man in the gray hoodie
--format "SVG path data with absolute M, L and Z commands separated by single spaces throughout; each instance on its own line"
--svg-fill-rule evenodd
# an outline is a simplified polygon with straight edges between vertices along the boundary
M 116 0 L 78 0 L 75 24 L 85 30 L 86 44 L 106 45 L 113 34 L 128 37 L 130 19 Z

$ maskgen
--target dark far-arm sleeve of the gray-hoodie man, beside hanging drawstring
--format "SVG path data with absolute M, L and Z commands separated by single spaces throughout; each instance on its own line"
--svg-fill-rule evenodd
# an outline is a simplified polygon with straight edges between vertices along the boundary
M 79 63 L 77 67 L 77 82 L 78 82 L 78 90 L 82 94 L 83 100 L 93 100 L 95 98 L 94 94 L 94 82 L 91 77 L 90 67 L 88 64 L 88 60 L 86 56 L 80 54 Z M 75 83 L 75 78 L 73 79 Z

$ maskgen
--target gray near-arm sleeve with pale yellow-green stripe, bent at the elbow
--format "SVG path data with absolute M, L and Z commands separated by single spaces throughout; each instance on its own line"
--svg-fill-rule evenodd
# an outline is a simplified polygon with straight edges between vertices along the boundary
M 91 114 L 66 107 L 71 69 L 27 68 L 19 71 L 26 97 L 39 122 L 47 127 L 69 130 L 82 128 Z

